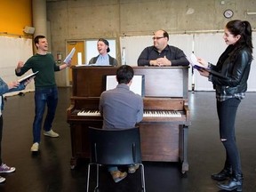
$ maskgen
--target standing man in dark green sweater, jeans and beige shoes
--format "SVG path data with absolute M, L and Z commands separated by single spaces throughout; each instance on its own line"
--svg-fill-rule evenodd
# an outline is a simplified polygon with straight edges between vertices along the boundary
M 35 77 L 36 116 L 33 123 L 34 139 L 31 147 L 32 152 L 36 152 L 39 149 L 45 105 L 47 105 L 48 110 L 44 119 L 44 135 L 52 138 L 59 137 L 58 133 L 52 131 L 52 122 L 58 103 L 58 89 L 54 72 L 68 68 L 70 65 L 70 62 L 60 66 L 56 65 L 53 55 L 48 53 L 48 43 L 45 36 L 36 36 L 34 43 L 37 49 L 36 55 L 29 58 L 25 64 L 19 61 L 15 69 L 16 76 L 22 76 L 29 69 L 32 69 L 33 73 L 38 71 Z

